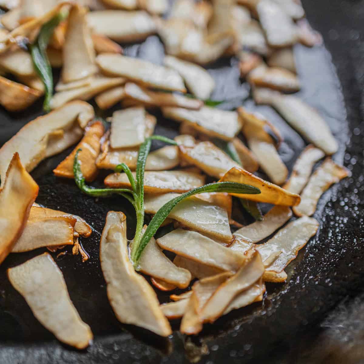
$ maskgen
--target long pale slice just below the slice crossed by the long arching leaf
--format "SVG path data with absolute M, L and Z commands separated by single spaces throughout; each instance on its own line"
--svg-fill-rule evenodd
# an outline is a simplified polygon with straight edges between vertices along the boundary
M 246 261 L 243 254 L 195 231 L 174 230 L 157 239 L 157 244 L 162 249 L 220 270 L 236 272 Z

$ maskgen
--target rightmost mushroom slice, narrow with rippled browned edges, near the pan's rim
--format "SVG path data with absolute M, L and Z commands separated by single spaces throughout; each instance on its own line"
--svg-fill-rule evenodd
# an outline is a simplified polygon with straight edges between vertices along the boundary
M 311 216 L 321 195 L 333 184 L 347 177 L 349 171 L 326 158 L 311 175 L 301 194 L 301 203 L 293 208 L 297 216 Z

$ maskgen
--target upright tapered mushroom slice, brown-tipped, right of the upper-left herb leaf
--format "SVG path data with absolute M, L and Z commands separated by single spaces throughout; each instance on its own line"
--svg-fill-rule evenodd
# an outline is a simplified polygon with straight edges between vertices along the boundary
M 98 71 L 86 14 L 86 8 L 74 5 L 68 16 L 66 40 L 63 46 L 62 80 L 64 83 L 86 78 Z

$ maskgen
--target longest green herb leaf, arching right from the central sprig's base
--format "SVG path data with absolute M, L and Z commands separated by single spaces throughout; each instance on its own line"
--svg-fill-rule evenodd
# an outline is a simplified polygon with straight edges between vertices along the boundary
M 227 193 L 247 193 L 247 194 L 259 194 L 260 190 L 256 187 L 250 185 L 243 185 L 241 183 L 236 182 L 217 182 L 217 183 L 209 183 L 208 185 L 195 188 L 189 192 L 186 192 L 178 197 L 175 197 L 171 201 L 168 201 L 164 206 L 162 206 L 157 213 L 153 216 L 153 219 L 149 223 L 143 237 L 139 241 L 138 246 L 133 246 L 133 250 L 131 253 L 131 259 L 134 263 L 134 267 L 137 268 L 138 260 L 141 257 L 141 254 L 150 241 L 150 239 L 154 236 L 155 232 L 158 230 L 159 226 L 165 221 L 167 216 L 173 210 L 175 206 L 178 205 L 183 199 L 190 197 L 195 194 L 204 193 L 204 192 L 227 192 Z

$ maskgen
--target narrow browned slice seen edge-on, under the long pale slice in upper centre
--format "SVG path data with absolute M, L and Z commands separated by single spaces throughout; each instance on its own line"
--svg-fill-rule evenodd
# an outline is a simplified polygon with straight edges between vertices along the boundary
M 146 106 L 183 107 L 191 110 L 199 110 L 203 106 L 203 102 L 201 100 L 192 99 L 178 94 L 151 91 L 131 82 L 128 82 L 125 85 L 125 94 L 128 98 L 141 102 Z

